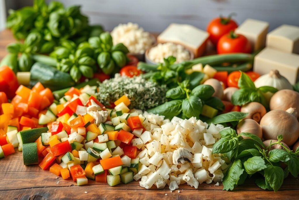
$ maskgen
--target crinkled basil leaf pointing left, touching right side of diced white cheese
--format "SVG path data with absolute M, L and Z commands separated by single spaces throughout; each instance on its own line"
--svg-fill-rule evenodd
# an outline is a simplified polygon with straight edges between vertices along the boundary
M 221 138 L 213 146 L 213 154 L 224 154 L 238 146 L 238 138 Z

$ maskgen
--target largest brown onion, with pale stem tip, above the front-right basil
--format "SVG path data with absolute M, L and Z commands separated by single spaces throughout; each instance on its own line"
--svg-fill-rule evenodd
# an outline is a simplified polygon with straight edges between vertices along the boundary
M 260 126 L 265 140 L 275 140 L 277 136 L 282 135 L 282 141 L 291 146 L 299 137 L 299 122 L 294 108 L 289 108 L 287 111 L 271 110 L 263 116 Z

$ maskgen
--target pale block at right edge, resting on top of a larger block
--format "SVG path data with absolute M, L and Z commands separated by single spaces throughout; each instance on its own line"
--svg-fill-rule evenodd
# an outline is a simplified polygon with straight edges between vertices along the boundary
M 288 53 L 299 54 L 299 27 L 281 25 L 268 33 L 267 47 Z

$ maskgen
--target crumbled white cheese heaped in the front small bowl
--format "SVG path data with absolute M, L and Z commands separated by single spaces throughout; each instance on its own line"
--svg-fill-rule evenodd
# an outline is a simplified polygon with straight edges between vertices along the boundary
M 176 57 L 175 63 L 193 60 L 194 58 L 193 52 L 189 51 L 184 46 L 167 42 L 158 43 L 147 49 L 145 53 L 145 61 L 149 64 L 164 63 L 164 58 L 168 58 L 169 56 Z

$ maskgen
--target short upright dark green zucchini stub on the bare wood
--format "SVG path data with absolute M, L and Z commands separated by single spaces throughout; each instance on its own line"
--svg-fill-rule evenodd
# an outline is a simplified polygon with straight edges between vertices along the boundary
M 32 165 L 38 163 L 37 143 L 23 144 L 23 162 L 24 165 Z

